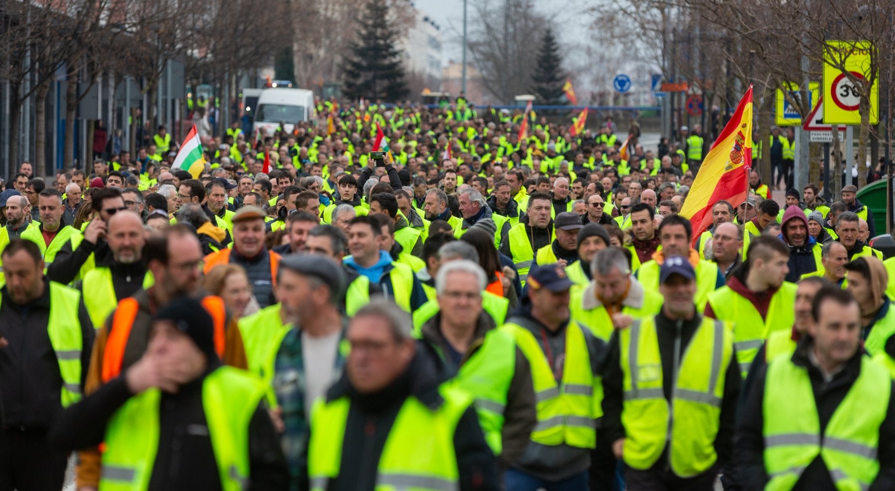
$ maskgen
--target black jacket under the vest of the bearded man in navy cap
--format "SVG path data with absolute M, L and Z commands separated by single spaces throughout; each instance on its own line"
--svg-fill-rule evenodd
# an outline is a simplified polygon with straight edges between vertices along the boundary
M 659 356 L 662 361 L 662 392 L 665 399 L 671 400 L 671 380 L 669 374 L 674 373 L 672 365 L 674 365 L 674 347 L 675 338 L 678 328 L 680 329 L 680 353 L 678 360 L 683 359 L 683 354 L 696 328 L 703 322 L 702 315 L 696 315 L 691 320 L 678 321 L 669 319 L 663 312 L 654 317 L 656 322 L 656 332 L 659 337 Z M 625 427 L 621 423 L 622 411 L 622 369 L 621 358 L 618 346 L 618 333 L 612 333 L 612 339 L 609 341 L 609 356 L 603 367 L 603 427 L 609 442 L 614 442 L 618 438 L 625 437 Z M 733 436 L 736 427 L 737 417 L 737 399 L 739 397 L 740 373 L 737 364 L 737 354 L 734 353 L 730 358 L 730 364 L 724 369 L 724 396 L 721 401 L 720 424 L 718 427 L 718 435 L 715 436 L 715 453 L 718 454 L 718 463 L 723 466 L 729 462 L 733 455 Z M 653 470 L 664 469 L 668 465 L 669 447 L 666 444 L 665 449 L 658 461 L 653 465 Z

